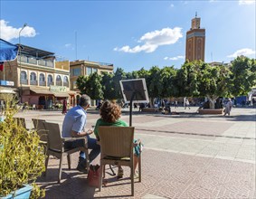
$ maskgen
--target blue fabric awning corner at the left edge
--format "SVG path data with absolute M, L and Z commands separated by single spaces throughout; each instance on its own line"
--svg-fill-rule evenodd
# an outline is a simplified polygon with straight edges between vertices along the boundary
M 0 39 L 0 62 L 12 61 L 17 57 L 18 46 Z

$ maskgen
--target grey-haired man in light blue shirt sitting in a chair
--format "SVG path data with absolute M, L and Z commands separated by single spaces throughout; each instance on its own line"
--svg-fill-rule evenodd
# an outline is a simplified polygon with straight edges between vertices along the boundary
M 90 107 L 90 97 L 82 95 L 79 105 L 70 109 L 65 115 L 62 124 L 62 137 L 87 137 L 88 148 L 91 149 L 89 159 L 90 162 L 100 154 L 100 145 L 97 144 L 95 138 L 91 138 L 90 134 L 93 133 L 92 129 L 85 130 L 87 113 L 86 110 Z M 72 147 L 85 147 L 83 139 L 66 141 L 64 144 L 66 148 Z M 83 151 L 80 152 L 79 163 L 77 170 L 88 173 L 89 168 L 86 168 L 86 156 Z

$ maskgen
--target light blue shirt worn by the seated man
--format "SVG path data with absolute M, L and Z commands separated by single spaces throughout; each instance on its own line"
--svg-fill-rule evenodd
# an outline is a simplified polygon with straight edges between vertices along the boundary
M 81 133 L 86 126 L 86 111 L 81 106 L 69 110 L 62 124 L 62 137 L 71 137 L 71 131 Z

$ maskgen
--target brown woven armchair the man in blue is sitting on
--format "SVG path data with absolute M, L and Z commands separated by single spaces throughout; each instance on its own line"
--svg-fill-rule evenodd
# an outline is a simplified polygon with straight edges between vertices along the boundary
M 87 168 L 89 169 L 89 153 L 88 153 L 88 145 L 87 145 L 87 138 L 86 137 L 62 137 L 59 124 L 51 123 L 51 122 L 43 122 L 44 128 L 48 130 L 48 144 L 47 144 L 47 152 L 46 152 L 46 161 L 45 161 L 45 175 L 47 171 L 49 156 L 56 156 L 60 159 L 60 166 L 59 166 L 59 179 L 58 183 L 61 183 L 62 179 L 62 159 L 63 156 L 68 157 L 68 165 L 69 169 L 71 169 L 71 154 L 84 151 L 87 159 Z M 83 139 L 85 142 L 86 147 L 76 147 L 76 148 L 64 148 L 65 141 L 71 141 L 74 139 Z

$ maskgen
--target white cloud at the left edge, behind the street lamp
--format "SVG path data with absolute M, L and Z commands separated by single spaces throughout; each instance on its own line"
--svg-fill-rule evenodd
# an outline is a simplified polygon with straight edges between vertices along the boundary
M 0 38 L 6 41 L 11 41 L 12 39 L 19 38 L 19 32 L 21 28 L 14 28 L 13 26 L 8 25 L 8 22 L 5 20 L 0 20 Z M 34 37 L 36 35 L 35 30 L 33 27 L 25 26 L 24 30 L 21 32 L 21 36 L 24 37 Z

